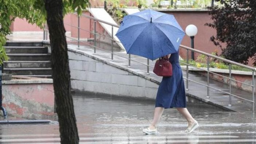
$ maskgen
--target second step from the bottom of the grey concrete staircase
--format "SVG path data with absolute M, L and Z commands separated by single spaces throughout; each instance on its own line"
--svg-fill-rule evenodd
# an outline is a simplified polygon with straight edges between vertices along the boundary
M 50 68 L 50 61 L 4 61 L 4 68 Z

